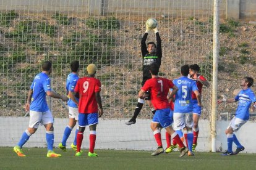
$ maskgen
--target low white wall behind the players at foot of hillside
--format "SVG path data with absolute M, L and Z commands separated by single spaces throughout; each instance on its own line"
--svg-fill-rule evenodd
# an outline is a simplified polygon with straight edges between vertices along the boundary
M 20 136 L 28 126 L 29 118 L 0 118 L 0 147 L 13 147 L 19 142 Z M 100 119 L 97 127 L 96 149 L 116 149 L 116 150 L 155 150 L 156 142 L 150 129 L 150 119 L 138 119 L 136 124 L 127 126 L 124 119 L 105 120 Z M 61 142 L 64 128 L 67 126 L 68 119 L 55 119 L 54 123 L 54 146 Z M 224 130 L 229 122 L 219 121 L 217 127 L 216 150 L 224 151 L 227 149 L 226 135 Z M 237 133 L 237 138 L 245 147 L 245 152 L 256 153 L 256 136 L 254 134 L 256 123 L 246 123 Z M 67 147 L 74 140 L 74 132 L 67 140 Z M 162 130 L 163 146 L 166 147 L 165 131 Z M 83 138 L 83 148 L 88 148 L 88 127 L 85 129 Z M 33 134 L 24 147 L 46 147 L 45 127 L 40 126 L 38 131 Z M 234 146 L 234 150 L 235 150 Z M 198 137 L 198 152 L 210 152 L 210 123 L 200 120 L 200 134 Z

